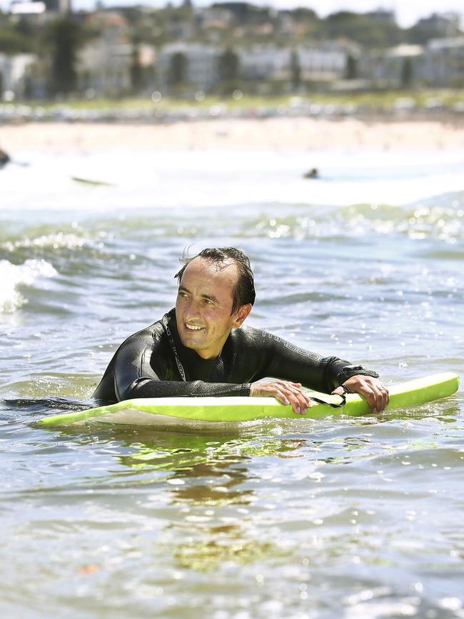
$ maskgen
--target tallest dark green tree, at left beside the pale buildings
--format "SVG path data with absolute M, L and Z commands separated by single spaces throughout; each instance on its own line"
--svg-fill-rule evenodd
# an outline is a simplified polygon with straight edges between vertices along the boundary
M 79 22 L 65 17 L 50 26 L 51 90 L 54 94 L 69 94 L 77 85 L 77 51 L 84 41 Z

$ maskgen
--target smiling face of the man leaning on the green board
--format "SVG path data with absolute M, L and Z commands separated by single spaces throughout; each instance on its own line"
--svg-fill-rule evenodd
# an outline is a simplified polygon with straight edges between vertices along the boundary
M 233 261 L 218 267 L 203 258 L 188 263 L 176 300 L 177 329 L 183 346 L 203 359 L 216 358 L 233 328 L 241 326 L 251 305 L 231 314 L 238 268 Z

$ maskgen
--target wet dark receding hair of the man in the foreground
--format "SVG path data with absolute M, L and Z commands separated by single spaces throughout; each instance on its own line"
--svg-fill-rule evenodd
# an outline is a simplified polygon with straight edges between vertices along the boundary
M 183 263 L 183 267 L 174 276 L 175 278 L 178 278 L 179 285 L 181 283 L 183 271 L 186 270 L 187 265 L 191 263 L 194 258 L 203 258 L 203 260 L 208 260 L 219 267 L 223 266 L 224 263 L 233 261 L 238 268 L 238 279 L 236 286 L 233 289 L 231 314 L 235 313 L 238 308 L 246 305 L 247 303 L 253 305 L 256 298 L 255 280 L 253 271 L 251 271 L 250 261 L 248 260 L 248 257 L 245 256 L 243 251 L 240 251 L 235 247 L 211 247 L 203 249 L 203 251 L 197 253 L 196 256 L 192 256 L 191 258 L 188 258 L 187 252 L 184 251 L 182 258 L 180 258 Z

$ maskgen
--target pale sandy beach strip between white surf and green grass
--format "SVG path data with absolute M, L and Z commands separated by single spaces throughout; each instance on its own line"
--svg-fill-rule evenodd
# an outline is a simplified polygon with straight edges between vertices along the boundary
M 221 119 L 173 124 L 30 123 L 0 127 L 16 151 L 134 149 L 463 149 L 464 123 L 357 119 Z

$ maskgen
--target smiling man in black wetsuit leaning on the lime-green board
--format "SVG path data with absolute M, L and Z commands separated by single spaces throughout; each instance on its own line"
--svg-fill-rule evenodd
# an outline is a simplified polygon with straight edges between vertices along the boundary
M 273 396 L 304 414 L 312 401 L 303 384 L 360 393 L 373 412 L 387 406 L 388 390 L 377 373 L 242 326 L 255 288 L 250 262 L 238 249 L 203 249 L 184 260 L 176 278 L 176 308 L 123 342 L 94 398 Z M 266 377 L 272 380 L 258 382 Z

